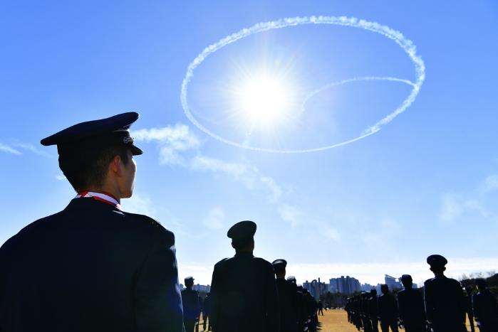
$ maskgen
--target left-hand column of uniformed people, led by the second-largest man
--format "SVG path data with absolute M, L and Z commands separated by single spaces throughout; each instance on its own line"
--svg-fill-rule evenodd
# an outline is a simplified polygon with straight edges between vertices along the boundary
M 322 302 L 298 286 L 295 277 L 286 278 L 285 259 L 270 264 L 253 256 L 255 232 L 256 224 L 249 220 L 230 228 L 235 256 L 214 266 L 204 301 L 193 289 L 194 278 L 185 278 L 185 331 L 199 331 L 201 312 L 204 331 L 317 331 Z

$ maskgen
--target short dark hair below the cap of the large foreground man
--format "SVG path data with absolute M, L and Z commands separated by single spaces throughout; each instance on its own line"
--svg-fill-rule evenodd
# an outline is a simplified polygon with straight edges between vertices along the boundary
M 105 146 L 100 149 L 85 149 L 71 154 L 59 155 L 59 168 L 75 191 L 88 186 L 103 185 L 108 166 L 115 156 L 120 156 L 128 164 L 128 147 L 123 145 Z

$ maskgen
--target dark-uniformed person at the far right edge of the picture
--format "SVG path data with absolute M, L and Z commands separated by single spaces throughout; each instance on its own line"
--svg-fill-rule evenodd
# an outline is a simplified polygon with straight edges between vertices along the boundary
M 497 298 L 487 288 L 484 279 L 477 279 L 479 292 L 472 297 L 474 317 L 480 332 L 498 331 L 498 304 Z

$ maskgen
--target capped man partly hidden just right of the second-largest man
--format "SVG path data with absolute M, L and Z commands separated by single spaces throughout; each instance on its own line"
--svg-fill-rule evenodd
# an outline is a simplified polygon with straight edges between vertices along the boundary
M 291 282 L 285 279 L 287 262 L 276 259 L 271 263 L 276 277 L 276 289 L 279 293 L 280 331 L 297 332 L 298 304 L 297 292 Z

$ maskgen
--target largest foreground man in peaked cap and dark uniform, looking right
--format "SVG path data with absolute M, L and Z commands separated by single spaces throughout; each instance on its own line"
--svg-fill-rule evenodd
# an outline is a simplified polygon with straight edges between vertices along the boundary
M 142 154 L 129 132 L 137 119 L 128 112 L 41 140 L 57 145 L 77 195 L 1 247 L 0 331 L 183 331 L 175 236 L 120 208 Z

